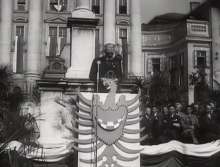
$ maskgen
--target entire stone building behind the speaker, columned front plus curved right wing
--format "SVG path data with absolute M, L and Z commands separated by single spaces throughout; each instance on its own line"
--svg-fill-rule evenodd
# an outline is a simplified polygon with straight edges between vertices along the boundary
M 116 44 L 123 55 L 125 78 L 149 77 L 157 71 L 167 71 L 170 83 L 185 90 L 189 101 L 193 101 L 189 99 L 193 96 L 189 75 L 201 67 L 211 87 L 220 82 L 220 14 L 215 0 L 190 0 L 189 15 L 159 16 L 143 24 L 142 30 L 140 0 L 1 0 L 0 3 L 0 63 L 10 66 L 14 86 L 27 95 L 42 77 L 65 78 L 63 73 L 76 59 L 71 57 L 72 35 L 67 20 L 80 5 L 93 11 L 98 19 L 93 57 L 102 56 L 106 43 Z

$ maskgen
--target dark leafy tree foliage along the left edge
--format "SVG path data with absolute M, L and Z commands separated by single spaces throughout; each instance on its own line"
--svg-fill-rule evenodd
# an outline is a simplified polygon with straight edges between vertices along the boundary
M 0 166 L 24 166 L 23 163 L 29 164 L 29 160 L 22 160 L 22 164 L 19 165 L 18 156 L 16 151 L 10 151 L 10 158 L 4 154 L 4 150 L 7 145 L 13 141 L 17 140 L 26 145 L 33 145 L 36 143 L 31 143 L 32 136 L 35 133 L 35 118 L 28 115 L 20 114 L 20 106 L 23 103 L 23 95 L 19 87 L 14 87 L 11 92 L 11 74 L 7 67 L 0 67 Z M 9 152 L 8 152 L 9 153 Z M 9 160 L 12 160 L 10 163 Z M 31 166 L 31 163 L 30 165 Z M 27 166 L 27 167 L 28 167 Z

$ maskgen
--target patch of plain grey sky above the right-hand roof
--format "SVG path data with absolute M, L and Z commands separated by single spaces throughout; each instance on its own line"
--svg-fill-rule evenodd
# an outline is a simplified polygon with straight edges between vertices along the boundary
M 189 12 L 189 0 L 141 0 L 142 23 L 148 23 L 155 16 L 165 13 Z

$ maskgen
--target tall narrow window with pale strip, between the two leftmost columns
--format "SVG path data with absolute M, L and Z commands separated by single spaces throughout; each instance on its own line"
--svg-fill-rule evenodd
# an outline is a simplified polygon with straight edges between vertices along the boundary
M 23 53 L 24 53 L 24 26 L 16 26 L 15 36 L 15 55 L 13 60 L 13 71 L 23 72 Z

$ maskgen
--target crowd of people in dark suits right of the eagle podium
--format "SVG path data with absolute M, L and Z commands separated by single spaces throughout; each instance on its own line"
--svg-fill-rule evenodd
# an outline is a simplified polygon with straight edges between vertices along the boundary
M 215 103 L 148 106 L 143 112 L 142 144 L 160 144 L 171 140 L 206 143 L 220 139 L 220 114 Z

